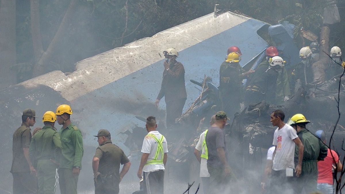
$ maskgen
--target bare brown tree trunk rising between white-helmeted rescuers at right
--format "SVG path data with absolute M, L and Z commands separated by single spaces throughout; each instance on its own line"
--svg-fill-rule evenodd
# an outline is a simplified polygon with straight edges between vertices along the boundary
M 323 26 L 320 33 L 320 58 L 313 66 L 314 83 L 320 83 L 326 81 L 327 65 L 329 62 L 329 27 Z

